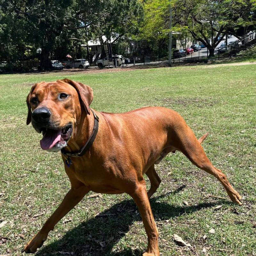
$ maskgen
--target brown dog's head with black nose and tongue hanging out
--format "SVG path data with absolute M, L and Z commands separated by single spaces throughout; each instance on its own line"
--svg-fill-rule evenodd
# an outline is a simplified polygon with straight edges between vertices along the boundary
M 92 88 L 69 79 L 41 82 L 32 86 L 27 97 L 27 124 L 39 133 L 42 149 L 59 151 L 76 134 L 81 113 L 90 115 Z

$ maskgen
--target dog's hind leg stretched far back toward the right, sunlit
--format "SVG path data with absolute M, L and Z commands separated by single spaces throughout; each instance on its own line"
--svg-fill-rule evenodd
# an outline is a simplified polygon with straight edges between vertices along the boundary
M 176 138 L 178 143 L 175 146 L 177 146 L 177 148 L 179 148 L 179 150 L 187 156 L 193 164 L 216 177 L 226 189 L 230 199 L 234 203 L 241 205 L 242 197 L 231 186 L 226 175 L 221 172 L 221 170 L 214 167 L 205 155 L 204 149 L 201 146 L 204 136 L 197 140 L 194 132 L 188 126 L 186 126 L 186 128 L 184 127 L 184 130 L 181 132 L 183 133 L 183 136 L 178 136 Z

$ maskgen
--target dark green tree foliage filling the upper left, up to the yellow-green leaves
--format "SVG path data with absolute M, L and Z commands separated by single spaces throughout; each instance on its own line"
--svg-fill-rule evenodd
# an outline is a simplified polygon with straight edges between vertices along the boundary
M 0 59 L 15 62 L 41 52 L 42 68 L 49 68 L 51 53 L 84 56 L 82 44 L 102 36 L 136 33 L 142 17 L 139 0 L 1 0 Z M 103 44 L 103 41 L 102 41 Z M 26 55 L 25 55 L 26 54 Z

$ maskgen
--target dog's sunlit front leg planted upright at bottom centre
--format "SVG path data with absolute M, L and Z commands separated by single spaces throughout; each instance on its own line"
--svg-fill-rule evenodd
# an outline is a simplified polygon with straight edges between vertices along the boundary
M 159 256 L 158 230 L 149 204 L 145 181 L 137 184 L 135 191 L 131 194 L 137 204 L 140 215 L 148 236 L 148 249 L 143 256 Z

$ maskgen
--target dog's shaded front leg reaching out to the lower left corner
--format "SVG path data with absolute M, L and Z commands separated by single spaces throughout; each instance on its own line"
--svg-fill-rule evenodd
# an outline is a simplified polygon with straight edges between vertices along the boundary
M 53 230 L 56 223 L 63 218 L 70 210 L 72 210 L 76 204 L 78 204 L 89 189 L 85 186 L 78 188 L 71 188 L 67 195 L 64 197 L 60 206 L 53 212 L 52 216 L 46 220 L 41 230 L 28 242 L 22 252 L 34 253 L 37 248 L 40 248 L 46 240 L 48 233 Z

